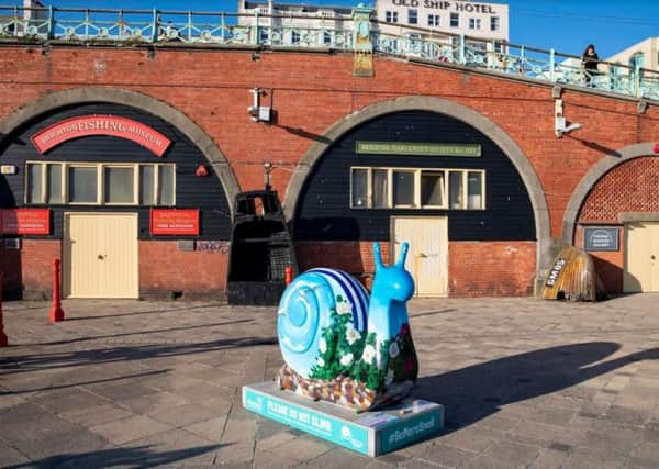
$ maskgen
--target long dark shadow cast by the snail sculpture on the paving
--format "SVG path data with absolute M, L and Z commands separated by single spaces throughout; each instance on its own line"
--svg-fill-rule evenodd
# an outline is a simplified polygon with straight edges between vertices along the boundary
M 469 426 L 505 404 L 560 391 L 632 361 L 658 359 L 659 348 L 602 361 L 619 349 L 611 342 L 563 345 L 499 358 L 421 378 L 414 397 L 446 405 L 446 432 Z

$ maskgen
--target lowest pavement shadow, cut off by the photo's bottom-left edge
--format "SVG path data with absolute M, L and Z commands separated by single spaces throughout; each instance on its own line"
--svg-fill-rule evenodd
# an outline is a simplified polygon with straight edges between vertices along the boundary
M 93 453 L 49 456 L 36 461 L 8 466 L 7 468 L 107 468 L 118 466 L 147 468 L 193 458 L 216 450 L 223 446 L 227 445 L 206 445 L 160 453 L 153 450 L 149 445 L 137 446 L 134 448 L 111 448 L 96 450 Z M 197 465 L 201 464 L 198 462 Z M 211 465 L 212 461 L 208 461 L 204 464 L 204 467 Z

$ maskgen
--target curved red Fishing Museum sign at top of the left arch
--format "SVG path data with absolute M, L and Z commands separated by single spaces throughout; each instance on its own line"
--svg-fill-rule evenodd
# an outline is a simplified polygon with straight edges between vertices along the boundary
M 38 153 L 44 154 L 64 142 L 89 135 L 126 138 L 142 145 L 156 156 L 163 156 L 171 143 L 165 135 L 141 122 L 104 114 L 80 115 L 57 122 L 34 134 L 31 139 Z

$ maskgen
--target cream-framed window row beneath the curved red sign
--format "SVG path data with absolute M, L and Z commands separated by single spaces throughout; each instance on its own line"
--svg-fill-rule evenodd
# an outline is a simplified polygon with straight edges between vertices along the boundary
M 27 161 L 25 166 L 29 205 L 176 204 L 171 164 Z

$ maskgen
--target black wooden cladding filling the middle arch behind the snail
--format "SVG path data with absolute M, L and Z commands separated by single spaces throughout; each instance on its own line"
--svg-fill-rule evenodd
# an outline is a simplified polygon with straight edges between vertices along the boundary
M 481 157 L 357 154 L 356 143 L 480 144 Z M 350 209 L 350 167 L 485 170 L 485 210 Z M 449 241 L 535 241 L 533 206 L 510 158 L 471 125 L 435 112 L 394 112 L 344 134 L 319 159 L 300 192 L 297 239 L 386 241 L 392 215 L 447 215 Z

